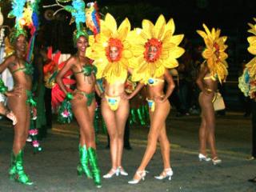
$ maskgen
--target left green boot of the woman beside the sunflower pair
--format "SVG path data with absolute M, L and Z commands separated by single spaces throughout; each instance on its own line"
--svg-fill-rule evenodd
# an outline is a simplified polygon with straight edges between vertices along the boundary
M 79 149 L 79 156 L 80 156 L 80 163 L 78 164 L 77 170 L 78 175 L 81 176 L 83 173 L 86 174 L 87 178 L 93 178 L 90 172 L 90 169 L 88 167 L 89 165 L 89 157 L 86 150 L 86 145 L 84 146 L 78 146 Z

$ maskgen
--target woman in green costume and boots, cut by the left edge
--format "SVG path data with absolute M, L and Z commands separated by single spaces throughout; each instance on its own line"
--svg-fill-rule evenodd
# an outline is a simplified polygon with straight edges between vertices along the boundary
M 12 54 L 2 62 L 0 73 L 8 68 L 14 78 L 14 89 L 20 90 L 19 96 L 10 95 L 4 91 L 8 97 L 8 106 L 17 118 L 14 126 L 14 145 L 11 153 L 10 179 L 15 179 L 22 184 L 32 185 L 33 182 L 26 175 L 23 168 L 23 150 L 26 145 L 26 138 L 30 127 L 30 105 L 34 105 L 31 96 L 33 67 L 26 62 L 26 31 L 22 27 L 26 4 L 25 0 L 13 0 L 9 17 L 15 17 L 14 29 L 10 32 L 10 44 L 14 49 Z M 10 47 L 8 47 L 10 50 Z M 2 85 L 3 86 L 3 85 Z

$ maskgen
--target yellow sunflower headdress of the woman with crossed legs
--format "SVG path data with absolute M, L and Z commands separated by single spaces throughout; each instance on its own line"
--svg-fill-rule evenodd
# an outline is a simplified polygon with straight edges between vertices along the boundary
M 135 29 L 129 34 L 129 41 L 134 52 L 134 71 L 132 80 L 146 83 L 149 78 L 161 77 L 166 69 L 178 66 L 177 58 L 185 50 L 178 45 L 182 42 L 183 34 L 174 35 L 174 20 L 166 19 L 161 14 L 155 25 L 149 20 L 142 21 L 142 29 Z M 154 58 L 148 52 L 154 47 Z

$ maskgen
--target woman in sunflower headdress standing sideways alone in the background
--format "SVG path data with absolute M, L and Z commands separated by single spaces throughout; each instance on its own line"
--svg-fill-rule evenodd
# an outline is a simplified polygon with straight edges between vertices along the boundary
M 196 80 L 201 93 L 199 94 L 199 104 L 201 106 L 202 122 L 199 128 L 199 161 L 212 161 L 214 165 L 222 162 L 218 158 L 215 146 L 215 113 L 214 101 L 218 95 L 218 81 L 224 82 L 228 74 L 225 53 L 227 48 L 226 36 L 220 36 L 221 30 L 214 28 L 210 31 L 205 24 L 202 30 L 197 30 L 204 39 L 206 49 L 202 52 L 205 61 L 202 62 L 198 78 Z M 210 146 L 211 158 L 206 154 L 206 143 Z

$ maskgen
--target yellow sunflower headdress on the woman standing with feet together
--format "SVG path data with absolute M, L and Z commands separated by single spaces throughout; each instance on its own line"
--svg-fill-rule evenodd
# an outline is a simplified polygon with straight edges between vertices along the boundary
M 133 57 L 130 43 L 126 40 L 129 32 L 128 18 L 118 27 L 114 17 L 106 14 L 105 19 L 101 20 L 100 33 L 95 37 L 90 35 L 90 47 L 86 50 L 86 56 L 93 59 L 98 68 L 97 78 L 106 78 L 110 84 L 126 81 L 130 58 Z M 118 49 L 118 56 L 114 60 L 110 58 L 111 47 Z

